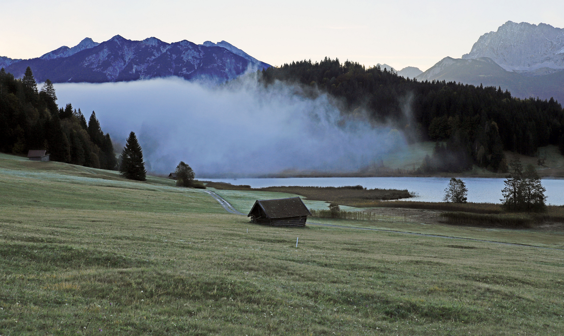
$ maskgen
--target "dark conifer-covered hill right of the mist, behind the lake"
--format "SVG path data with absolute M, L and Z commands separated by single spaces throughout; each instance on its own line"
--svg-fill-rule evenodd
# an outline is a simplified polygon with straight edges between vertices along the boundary
M 261 75 L 265 85 L 297 82 L 305 94 L 341 98 L 347 113 L 364 110 L 373 121 L 391 122 L 408 141 L 440 142 L 424 171 L 461 172 L 477 164 L 506 172 L 503 150 L 530 156 L 549 144 L 564 150 L 564 112 L 553 98 L 519 99 L 499 87 L 417 81 L 327 57 L 263 69 Z

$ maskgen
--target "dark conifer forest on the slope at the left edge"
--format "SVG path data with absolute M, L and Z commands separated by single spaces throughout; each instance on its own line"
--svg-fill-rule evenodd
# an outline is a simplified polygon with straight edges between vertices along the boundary
M 51 81 L 38 90 L 29 67 L 21 79 L 0 69 L 0 151 L 47 150 L 53 161 L 116 169 L 112 139 L 94 111 L 86 122 L 80 108 L 59 108 L 56 100 Z

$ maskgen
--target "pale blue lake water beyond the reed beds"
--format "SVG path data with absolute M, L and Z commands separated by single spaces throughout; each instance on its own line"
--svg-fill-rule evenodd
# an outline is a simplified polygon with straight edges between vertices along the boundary
M 368 189 L 407 189 L 418 197 L 408 200 L 422 202 L 442 202 L 444 189 L 450 178 L 447 177 L 296 177 L 296 178 L 205 178 L 202 180 L 228 182 L 235 185 L 250 185 L 253 188 L 269 186 L 353 186 L 362 185 Z M 503 178 L 462 178 L 468 188 L 468 202 L 500 203 Z M 547 204 L 564 204 L 564 180 L 543 180 L 547 189 Z

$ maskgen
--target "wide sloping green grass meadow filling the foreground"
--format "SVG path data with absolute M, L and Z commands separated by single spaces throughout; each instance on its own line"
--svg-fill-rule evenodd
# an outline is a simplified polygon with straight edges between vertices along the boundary
M 564 333 L 559 233 L 271 228 L 171 184 L 1 155 L 0 334 Z

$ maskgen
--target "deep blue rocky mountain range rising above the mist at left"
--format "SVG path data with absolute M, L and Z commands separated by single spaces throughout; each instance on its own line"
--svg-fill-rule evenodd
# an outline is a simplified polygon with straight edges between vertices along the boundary
M 38 82 L 117 82 L 179 76 L 187 80 L 224 82 L 246 71 L 270 67 L 226 41 L 166 43 L 149 37 L 131 41 L 116 35 L 98 43 L 85 38 L 38 58 L 0 56 L 0 67 L 20 77 L 31 67 Z

